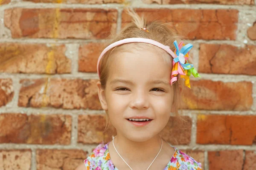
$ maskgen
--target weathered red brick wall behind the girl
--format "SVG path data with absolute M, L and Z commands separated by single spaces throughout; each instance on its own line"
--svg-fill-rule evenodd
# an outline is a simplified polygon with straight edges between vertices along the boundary
M 202 78 L 183 97 L 189 130 L 173 129 L 170 117 L 163 138 L 204 170 L 256 169 L 256 1 L 0 4 L 0 170 L 73 170 L 102 139 L 111 140 L 102 133 L 96 61 L 103 40 L 130 22 L 126 6 L 173 22 L 194 45 Z

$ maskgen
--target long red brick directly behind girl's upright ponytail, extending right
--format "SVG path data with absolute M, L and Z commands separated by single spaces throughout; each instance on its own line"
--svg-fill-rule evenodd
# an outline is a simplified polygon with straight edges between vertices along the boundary
M 235 9 L 136 9 L 146 20 L 173 23 L 180 35 L 189 39 L 236 40 L 238 10 Z M 131 17 L 122 13 L 122 26 Z M 150 28 L 149 28 L 150 29 Z M 150 31 L 150 30 L 149 30 Z

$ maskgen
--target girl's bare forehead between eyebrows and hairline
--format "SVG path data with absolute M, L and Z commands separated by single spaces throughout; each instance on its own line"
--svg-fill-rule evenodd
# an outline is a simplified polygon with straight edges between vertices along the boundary
M 113 56 L 109 66 L 109 78 L 148 81 L 152 78 L 169 79 L 171 64 L 153 50 L 140 52 L 118 52 Z M 168 57 L 168 56 L 167 56 Z

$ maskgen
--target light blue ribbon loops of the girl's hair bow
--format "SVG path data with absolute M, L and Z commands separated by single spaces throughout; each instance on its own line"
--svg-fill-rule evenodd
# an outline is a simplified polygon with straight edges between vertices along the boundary
M 175 63 L 177 63 L 178 61 L 180 62 L 180 59 L 179 59 L 180 53 L 185 56 L 189 52 L 189 50 L 191 50 L 193 47 L 193 45 L 189 43 L 183 46 L 181 49 L 179 49 L 179 45 L 176 40 L 174 41 L 174 46 L 176 48 L 176 55 L 177 55 L 177 57 L 173 59 Z M 183 67 L 183 69 L 186 69 L 186 70 L 193 68 L 193 64 L 189 64 L 189 63 L 186 63 L 186 64 L 180 63 L 180 65 Z

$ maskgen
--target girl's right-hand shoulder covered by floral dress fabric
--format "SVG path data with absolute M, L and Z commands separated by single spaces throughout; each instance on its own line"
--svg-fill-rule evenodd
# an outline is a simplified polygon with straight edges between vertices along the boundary
M 175 148 L 170 164 L 165 170 L 202 170 L 201 163 L 194 158 Z

